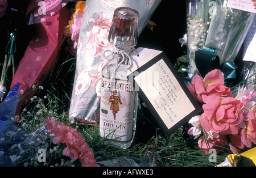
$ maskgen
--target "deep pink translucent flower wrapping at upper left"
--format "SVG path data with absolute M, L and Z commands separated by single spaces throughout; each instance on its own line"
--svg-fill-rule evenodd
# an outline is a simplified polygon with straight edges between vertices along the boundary
M 40 1 L 43 2 L 43 1 Z M 20 83 L 19 90 L 23 90 L 17 108 L 26 103 L 36 90 L 32 86 L 42 86 L 52 69 L 55 68 L 61 43 L 64 39 L 64 27 L 70 18 L 69 10 L 65 7 L 68 1 L 30 1 L 27 7 L 26 20 L 28 26 L 34 26 L 31 41 L 16 69 L 11 87 Z M 41 6 L 40 6 L 41 5 Z M 44 7 L 46 11 L 44 12 Z M 26 28 L 27 28 L 26 27 Z M 32 90 L 32 91 L 31 91 Z

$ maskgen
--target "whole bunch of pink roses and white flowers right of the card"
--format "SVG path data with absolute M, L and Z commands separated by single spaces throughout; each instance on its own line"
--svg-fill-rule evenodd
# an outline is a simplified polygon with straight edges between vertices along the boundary
M 254 74 L 255 75 L 255 74 Z M 256 144 L 255 80 L 232 90 L 224 86 L 220 70 L 210 71 L 204 78 L 193 77 L 188 84 L 194 98 L 203 104 L 204 113 L 192 117 L 188 130 L 196 138 L 201 150 L 229 146 L 234 153 L 253 148 Z

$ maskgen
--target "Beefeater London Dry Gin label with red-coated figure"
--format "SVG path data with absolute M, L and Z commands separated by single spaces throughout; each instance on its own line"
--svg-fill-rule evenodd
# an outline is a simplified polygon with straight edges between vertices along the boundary
M 135 91 L 129 80 L 101 78 L 100 135 L 130 141 L 133 134 Z

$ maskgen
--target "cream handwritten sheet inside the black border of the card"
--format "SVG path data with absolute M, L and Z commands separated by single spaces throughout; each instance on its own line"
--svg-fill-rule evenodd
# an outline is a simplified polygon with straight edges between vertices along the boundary
M 146 73 L 153 71 L 158 71 L 158 77 L 152 79 L 151 83 L 141 84 Z M 195 110 L 174 74 L 163 60 L 159 60 L 134 79 L 168 129 Z

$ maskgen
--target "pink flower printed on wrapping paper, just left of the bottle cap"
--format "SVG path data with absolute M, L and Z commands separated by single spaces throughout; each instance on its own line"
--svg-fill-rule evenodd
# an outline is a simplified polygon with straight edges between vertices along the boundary
M 85 47 L 93 49 L 93 57 L 100 57 L 103 50 L 112 48 L 112 44 L 108 40 L 112 19 L 106 19 L 106 14 L 101 12 L 97 20 L 90 19 L 89 22 L 92 22 L 94 26 L 91 31 L 86 30 L 89 40 Z

